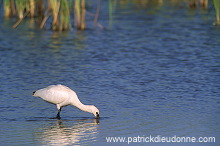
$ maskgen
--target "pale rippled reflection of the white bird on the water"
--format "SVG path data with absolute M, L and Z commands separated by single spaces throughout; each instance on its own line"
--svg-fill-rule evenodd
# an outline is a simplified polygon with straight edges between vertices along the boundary
M 83 119 L 73 122 L 58 120 L 56 124 L 40 129 L 35 136 L 44 145 L 58 146 L 81 145 L 96 140 L 98 119 Z

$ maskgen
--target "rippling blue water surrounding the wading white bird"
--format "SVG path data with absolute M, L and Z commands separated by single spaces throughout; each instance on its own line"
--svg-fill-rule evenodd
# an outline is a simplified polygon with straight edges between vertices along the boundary
M 29 21 L 14 30 L 1 16 L 1 144 L 127 145 L 106 137 L 177 135 L 216 137 L 206 145 L 219 145 L 220 27 L 208 19 L 214 14 L 167 5 L 117 7 L 113 14 L 111 23 L 100 17 L 108 30 L 64 33 L 30 28 Z M 101 119 L 71 106 L 53 119 L 56 106 L 31 96 L 50 84 L 75 90 Z

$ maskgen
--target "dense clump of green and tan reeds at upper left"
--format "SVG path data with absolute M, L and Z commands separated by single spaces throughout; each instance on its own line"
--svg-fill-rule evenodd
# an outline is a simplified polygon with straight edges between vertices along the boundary
M 49 23 L 53 31 L 71 30 L 70 23 L 73 18 L 76 29 L 86 29 L 86 0 L 3 0 L 3 2 L 5 18 L 18 18 L 13 28 L 16 28 L 24 18 L 40 18 L 41 29 Z M 98 14 L 92 16 L 98 24 Z

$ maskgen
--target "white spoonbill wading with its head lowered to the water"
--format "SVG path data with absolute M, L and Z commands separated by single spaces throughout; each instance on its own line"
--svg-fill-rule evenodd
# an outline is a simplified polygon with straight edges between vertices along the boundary
M 94 105 L 82 104 L 76 93 L 64 85 L 50 85 L 46 88 L 34 91 L 33 96 L 40 97 L 49 103 L 56 104 L 58 109 L 57 119 L 60 119 L 61 108 L 67 105 L 73 105 L 82 111 L 92 113 L 95 118 L 99 118 L 99 110 Z

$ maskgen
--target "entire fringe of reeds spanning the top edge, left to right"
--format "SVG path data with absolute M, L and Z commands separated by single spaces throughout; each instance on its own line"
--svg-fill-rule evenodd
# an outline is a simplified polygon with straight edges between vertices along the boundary
M 94 2 L 94 1 L 92 1 Z M 98 23 L 101 0 L 97 2 L 96 11 L 90 13 L 86 10 L 89 4 L 86 0 L 3 0 L 5 18 L 17 17 L 18 21 L 13 25 L 16 28 L 24 18 L 40 19 L 40 28 L 49 28 L 53 31 L 66 31 L 72 29 L 72 24 L 77 30 L 86 29 L 86 14 L 94 18 L 94 27 L 105 29 Z M 198 6 L 206 9 L 208 0 L 172 0 L 170 3 L 187 3 L 190 8 Z M 91 1 L 90 1 L 91 3 Z M 137 7 L 163 5 L 165 0 L 109 0 L 109 19 L 112 21 L 113 6 L 133 3 Z M 220 24 L 220 0 L 213 0 L 216 10 L 216 24 Z M 72 21 L 71 21 L 72 20 Z M 38 21 L 39 22 L 39 21 Z

